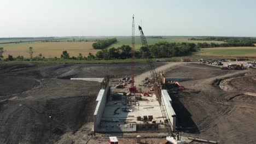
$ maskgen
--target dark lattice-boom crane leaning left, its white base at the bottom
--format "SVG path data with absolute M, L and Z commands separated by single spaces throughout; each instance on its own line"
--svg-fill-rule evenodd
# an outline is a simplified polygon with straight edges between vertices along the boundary
M 141 34 L 142 46 L 145 47 L 146 49 L 148 49 L 149 48 L 148 47 L 148 42 L 147 42 L 147 39 L 146 39 L 146 37 L 145 37 L 145 35 L 142 31 L 142 27 L 138 26 L 138 29 L 139 29 L 139 32 Z M 177 135 L 175 133 L 176 129 L 173 129 L 173 130 L 171 129 L 172 123 L 170 122 L 170 118 L 167 115 L 167 110 L 166 110 L 166 107 L 165 107 L 165 103 L 162 101 L 161 83 L 160 83 L 158 74 L 155 72 L 155 67 L 154 67 L 154 64 L 153 64 L 153 60 L 152 60 L 152 57 L 150 55 L 147 55 L 147 63 L 148 63 L 150 75 L 152 76 L 153 91 L 156 95 L 156 98 L 158 99 L 160 109 L 161 109 L 161 113 L 162 113 L 162 116 L 164 118 L 164 122 L 166 124 L 167 133 L 168 133 L 168 135 L 170 135 L 170 136 L 167 136 L 167 137 L 172 137 L 170 139 L 170 142 L 172 142 L 172 143 L 177 143 L 177 142 L 183 143 L 183 141 L 181 139 L 179 139 L 179 136 L 178 137 L 176 136 Z M 167 140 L 167 137 L 166 137 L 166 140 Z

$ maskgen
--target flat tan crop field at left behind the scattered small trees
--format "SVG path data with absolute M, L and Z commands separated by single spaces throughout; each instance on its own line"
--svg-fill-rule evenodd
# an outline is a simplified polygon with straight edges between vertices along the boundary
M 33 47 L 33 56 L 42 53 L 44 57 L 60 57 L 62 51 L 67 50 L 69 56 L 78 56 L 82 53 L 83 56 L 88 56 L 91 52 L 95 54 L 99 50 L 95 50 L 92 47 L 94 42 L 35 42 L 35 43 L 19 43 L 19 44 L 2 44 L 0 47 L 4 47 L 4 57 L 12 55 L 14 57 L 22 55 L 28 57 L 28 48 Z

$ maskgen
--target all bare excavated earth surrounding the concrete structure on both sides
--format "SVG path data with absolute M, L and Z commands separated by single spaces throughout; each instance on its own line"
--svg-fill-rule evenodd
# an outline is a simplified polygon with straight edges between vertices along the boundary
M 256 97 L 246 94 L 255 93 L 255 69 L 170 65 L 166 77 L 193 77 L 180 82 L 184 91 L 170 94 L 183 135 L 219 143 L 256 143 Z M 137 63 L 135 70 L 139 75 L 148 66 Z M 120 143 L 135 143 L 136 135 L 142 135 L 143 142 L 161 143 L 165 133 L 88 135 L 101 84 L 69 79 L 130 73 L 130 64 L 0 66 L 0 143 L 106 143 L 107 135 L 118 135 Z

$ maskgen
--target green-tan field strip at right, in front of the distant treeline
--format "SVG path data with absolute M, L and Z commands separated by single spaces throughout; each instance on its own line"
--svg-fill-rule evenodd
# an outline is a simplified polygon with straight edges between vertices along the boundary
M 201 49 L 195 55 L 256 57 L 256 47 L 214 47 Z

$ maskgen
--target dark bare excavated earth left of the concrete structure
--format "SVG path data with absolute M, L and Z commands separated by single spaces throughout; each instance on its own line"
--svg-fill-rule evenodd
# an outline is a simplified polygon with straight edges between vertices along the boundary
M 131 74 L 130 67 L 129 63 L 0 65 L 0 143 L 73 143 L 70 135 L 91 130 L 101 83 L 70 78 L 120 78 Z M 148 65 L 137 63 L 135 68 L 140 74 Z

